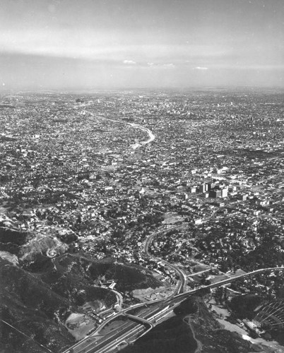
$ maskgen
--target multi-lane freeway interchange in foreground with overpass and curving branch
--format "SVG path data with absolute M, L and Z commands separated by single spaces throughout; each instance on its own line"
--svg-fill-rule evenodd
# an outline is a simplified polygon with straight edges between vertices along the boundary
M 187 287 L 187 276 L 184 275 L 182 270 L 176 266 L 168 263 L 161 258 L 155 258 L 150 255 L 148 248 L 153 241 L 153 238 L 161 234 L 162 232 L 169 232 L 172 229 L 183 227 L 183 225 L 177 225 L 168 229 L 163 229 L 160 232 L 150 234 L 146 238 L 143 246 L 143 251 L 146 256 L 149 256 L 155 260 L 162 261 L 167 267 L 172 268 L 179 278 L 174 292 L 166 299 L 158 299 L 149 301 L 143 304 L 136 304 L 127 309 L 120 311 L 111 318 L 107 319 L 100 327 L 90 336 L 85 337 L 80 342 L 73 345 L 64 353 L 107 353 L 113 349 L 119 350 L 120 347 L 124 347 L 131 342 L 134 342 L 148 333 L 155 325 L 160 323 L 165 317 L 171 313 L 174 308 L 179 306 L 182 301 L 186 300 L 193 294 L 200 292 L 205 289 L 212 289 L 216 287 L 222 287 L 230 285 L 230 283 L 236 280 L 242 280 L 245 277 L 251 277 L 259 273 L 271 272 L 273 270 L 284 270 L 284 267 L 279 268 L 262 268 L 254 270 L 251 273 L 244 273 L 232 278 L 220 280 L 210 285 L 201 285 L 195 289 L 191 289 L 186 292 Z M 115 323 L 117 322 L 117 325 Z M 106 330 L 114 324 L 114 327 L 110 330 Z

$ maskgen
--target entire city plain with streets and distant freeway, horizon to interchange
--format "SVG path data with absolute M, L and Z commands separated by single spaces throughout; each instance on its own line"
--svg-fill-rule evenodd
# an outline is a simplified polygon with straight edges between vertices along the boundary
M 117 302 L 85 304 L 92 320 L 79 338 L 118 311 L 176 294 L 181 276 L 189 292 L 284 266 L 281 92 L 25 92 L 1 102 L 1 227 L 33 235 L 0 256 L 17 265 L 85 253 L 140 265 L 162 284 L 123 291 L 100 278 Z M 212 288 L 207 305 L 260 295 L 254 320 L 237 324 L 269 338 L 280 274 Z

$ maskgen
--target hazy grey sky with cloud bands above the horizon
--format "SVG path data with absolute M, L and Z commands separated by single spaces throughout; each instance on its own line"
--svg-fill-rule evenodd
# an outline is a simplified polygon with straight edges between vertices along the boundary
M 0 6 L 0 90 L 284 87 L 284 0 Z

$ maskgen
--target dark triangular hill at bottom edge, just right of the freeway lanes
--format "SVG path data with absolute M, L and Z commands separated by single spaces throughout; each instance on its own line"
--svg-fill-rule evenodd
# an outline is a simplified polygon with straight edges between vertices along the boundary
M 252 352 L 250 342 L 223 330 L 201 297 L 191 297 L 174 309 L 176 316 L 157 325 L 122 353 L 190 353 L 199 345 L 202 353 Z

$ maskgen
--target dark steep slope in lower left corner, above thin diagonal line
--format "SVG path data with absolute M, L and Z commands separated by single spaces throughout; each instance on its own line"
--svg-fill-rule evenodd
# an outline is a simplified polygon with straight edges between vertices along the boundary
M 71 307 L 69 301 L 52 292 L 40 279 L 0 259 L 0 313 L 28 337 L 58 351 L 71 345 L 73 337 L 61 323 Z M 32 340 L 1 322 L 0 352 L 46 352 Z

